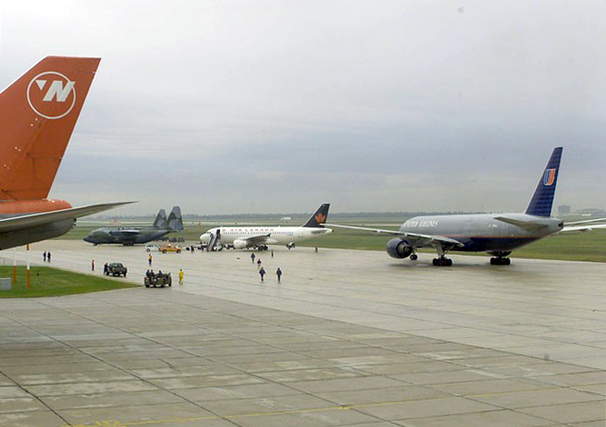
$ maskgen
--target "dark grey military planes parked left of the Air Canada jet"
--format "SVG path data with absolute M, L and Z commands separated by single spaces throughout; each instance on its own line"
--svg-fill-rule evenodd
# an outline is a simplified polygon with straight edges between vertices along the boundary
M 181 217 L 181 209 L 175 206 L 167 219 L 166 211 L 161 209 L 153 221 L 151 227 L 146 228 L 124 228 L 124 227 L 105 227 L 98 228 L 92 231 L 88 236 L 84 237 L 84 241 L 88 241 L 93 245 L 117 243 L 123 246 L 133 246 L 135 244 L 147 243 L 155 241 L 162 236 L 183 231 L 183 218 Z

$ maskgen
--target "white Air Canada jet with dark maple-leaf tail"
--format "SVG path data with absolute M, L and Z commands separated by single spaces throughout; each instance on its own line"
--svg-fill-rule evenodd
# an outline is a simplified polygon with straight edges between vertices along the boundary
M 327 220 L 329 208 L 330 204 L 324 203 L 305 224 L 298 227 L 223 226 L 211 228 L 200 236 L 200 241 L 208 245 L 209 250 L 214 249 L 217 244 L 232 245 L 233 249 L 267 249 L 267 245 L 286 245 L 289 249 L 294 248 L 298 241 L 333 233 L 333 230 L 323 225 Z

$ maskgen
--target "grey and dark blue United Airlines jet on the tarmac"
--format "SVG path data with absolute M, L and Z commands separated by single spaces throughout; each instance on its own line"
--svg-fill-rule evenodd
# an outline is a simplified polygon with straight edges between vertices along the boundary
M 595 224 L 600 220 L 579 221 L 564 225 L 562 219 L 551 217 L 563 147 L 557 147 L 547 162 L 531 202 L 524 213 L 468 214 L 413 217 L 399 231 L 381 230 L 351 225 L 327 224 L 334 227 L 394 234 L 387 243 L 390 257 L 417 259 L 419 248 L 434 248 L 437 258 L 433 265 L 453 265 L 446 254 L 453 251 L 487 252 L 492 265 L 509 265 L 512 250 L 555 233 L 605 228 Z M 602 218 L 602 222 L 606 218 Z M 592 224 L 593 223 L 593 224 Z

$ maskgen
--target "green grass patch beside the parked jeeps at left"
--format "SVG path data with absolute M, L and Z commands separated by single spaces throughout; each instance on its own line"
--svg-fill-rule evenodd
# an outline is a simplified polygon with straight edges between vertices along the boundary
M 0 266 L 0 277 L 12 278 L 12 266 Z M 102 277 L 73 273 L 51 267 L 32 267 L 30 278 L 30 289 L 28 289 L 27 269 L 24 265 L 18 265 L 17 284 L 13 283 L 12 290 L 0 290 L 0 298 L 59 297 L 137 287 L 132 283 L 111 281 Z

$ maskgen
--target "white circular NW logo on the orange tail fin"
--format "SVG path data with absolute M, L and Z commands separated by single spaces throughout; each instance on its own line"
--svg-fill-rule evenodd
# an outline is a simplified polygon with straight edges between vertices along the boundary
M 46 119 L 60 119 L 75 106 L 75 82 L 55 71 L 36 75 L 28 84 L 29 107 Z

